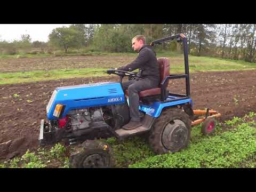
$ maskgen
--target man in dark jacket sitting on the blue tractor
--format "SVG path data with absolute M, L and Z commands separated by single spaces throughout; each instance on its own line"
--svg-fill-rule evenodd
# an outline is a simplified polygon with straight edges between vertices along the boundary
M 145 36 L 137 35 L 132 38 L 132 48 L 139 52 L 138 57 L 130 64 L 117 68 L 118 70 L 133 71 L 140 69 L 138 78 L 124 82 L 123 90 L 128 90 L 130 122 L 123 126 L 125 130 L 141 126 L 139 117 L 139 92 L 156 88 L 159 84 L 159 67 L 153 47 L 145 44 Z

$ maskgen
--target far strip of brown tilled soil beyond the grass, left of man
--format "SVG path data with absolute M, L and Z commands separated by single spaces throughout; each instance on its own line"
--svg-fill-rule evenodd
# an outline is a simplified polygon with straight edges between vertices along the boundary
M 135 56 L 66 56 L 0 59 L 1 73 L 50 69 L 115 68 L 131 62 Z

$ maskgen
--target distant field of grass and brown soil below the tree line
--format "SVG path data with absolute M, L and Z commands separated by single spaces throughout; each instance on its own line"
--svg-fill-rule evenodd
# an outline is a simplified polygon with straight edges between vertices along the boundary
M 9 55 L 10 56 L 10 55 Z M 17 58 L 17 55 L 0 57 L 0 84 L 44 81 L 60 78 L 106 76 L 106 69 L 132 62 L 136 53 L 101 53 L 54 57 L 41 55 Z M 183 54 L 158 53 L 157 57 L 170 59 L 170 73 L 183 73 Z M 256 69 L 256 63 L 189 55 L 190 73 L 195 71 L 225 71 Z

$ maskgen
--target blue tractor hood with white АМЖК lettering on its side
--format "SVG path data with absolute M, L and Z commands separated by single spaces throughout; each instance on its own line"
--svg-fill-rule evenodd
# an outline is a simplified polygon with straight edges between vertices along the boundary
M 64 109 L 59 118 L 66 116 L 68 111 L 86 107 L 99 107 L 124 103 L 125 97 L 121 84 L 116 82 L 90 83 L 57 87 L 46 107 L 48 119 L 53 116 L 55 106 L 61 104 Z

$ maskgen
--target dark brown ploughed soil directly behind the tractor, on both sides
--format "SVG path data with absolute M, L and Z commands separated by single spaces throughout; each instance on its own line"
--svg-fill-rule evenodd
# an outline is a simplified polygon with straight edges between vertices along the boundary
M 209 107 L 218 110 L 222 114 L 219 121 L 256 111 L 255 76 L 256 70 L 191 74 L 190 93 L 194 109 Z M 46 105 L 55 87 L 101 81 L 118 81 L 118 77 L 0 85 L 0 143 L 13 140 L 8 149 L 1 149 L 0 145 L 0 159 L 22 155 L 28 148 L 37 148 L 40 121 L 46 119 Z M 178 81 L 169 83 L 172 92 L 185 91 L 179 87 Z

